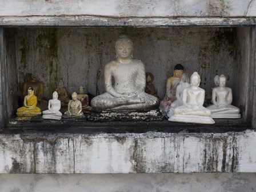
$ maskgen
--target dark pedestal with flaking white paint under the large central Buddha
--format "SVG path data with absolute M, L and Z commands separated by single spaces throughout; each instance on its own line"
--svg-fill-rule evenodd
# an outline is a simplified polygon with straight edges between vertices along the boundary
M 159 110 L 147 111 L 91 111 L 88 121 L 163 121 Z

